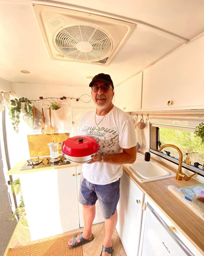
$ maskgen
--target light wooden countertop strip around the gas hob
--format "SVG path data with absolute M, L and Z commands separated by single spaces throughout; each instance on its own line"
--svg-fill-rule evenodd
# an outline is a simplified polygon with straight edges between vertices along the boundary
M 7 172 L 7 175 L 19 175 L 24 173 L 42 172 L 42 171 L 48 171 L 53 169 L 68 168 L 68 167 L 73 167 L 78 165 L 78 164 L 71 163 L 71 164 L 64 164 L 64 165 L 41 167 L 36 169 L 33 168 L 28 170 L 20 170 L 25 163 L 26 163 L 26 160 L 21 160 Z

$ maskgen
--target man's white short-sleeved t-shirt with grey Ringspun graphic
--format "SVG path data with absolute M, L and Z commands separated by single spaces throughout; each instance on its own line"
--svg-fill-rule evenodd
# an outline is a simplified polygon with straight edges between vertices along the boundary
M 106 116 L 96 114 L 96 110 L 84 114 L 77 135 L 91 136 L 99 143 L 101 155 L 122 153 L 123 148 L 136 146 L 134 123 L 131 117 L 114 106 Z M 122 165 L 109 163 L 83 164 L 83 177 L 93 184 L 106 185 L 117 181 L 123 174 Z

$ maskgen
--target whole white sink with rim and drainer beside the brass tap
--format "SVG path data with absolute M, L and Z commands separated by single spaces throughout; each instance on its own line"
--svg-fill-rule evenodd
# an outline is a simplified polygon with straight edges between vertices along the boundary
M 125 167 L 134 175 L 141 183 L 150 182 L 159 179 L 167 179 L 176 176 L 176 173 L 163 167 L 154 160 L 144 161 L 144 155 L 137 154 L 134 164 L 125 164 Z

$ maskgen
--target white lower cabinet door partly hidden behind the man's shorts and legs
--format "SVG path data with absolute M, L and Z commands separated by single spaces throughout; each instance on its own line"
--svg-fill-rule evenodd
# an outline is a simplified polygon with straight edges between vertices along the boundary
M 79 188 L 80 188 L 80 179 L 81 179 L 81 175 L 82 175 L 81 169 L 82 169 L 82 165 L 77 166 L 78 196 L 79 196 Z M 104 218 L 103 218 L 102 213 L 101 213 L 99 201 L 97 200 L 96 201 L 96 216 L 95 216 L 95 219 L 93 221 L 93 224 L 100 223 L 100 222 L 104 222 Z M 80 223 L 80 228 L 84 227 L 83 208 L 82 208 L 82 205 L 80 203 L 79 203 L 79 223 Z

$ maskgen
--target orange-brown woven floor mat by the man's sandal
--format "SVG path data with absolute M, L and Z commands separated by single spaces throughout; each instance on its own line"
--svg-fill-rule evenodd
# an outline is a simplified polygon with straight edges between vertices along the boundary
M 82 256 L 82 246 L 67 248 L 67 241 L 74 234 L 41 243 L 17 248 L 9 248 L 6 256 Z

